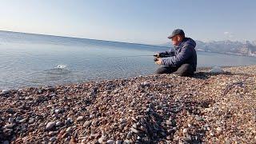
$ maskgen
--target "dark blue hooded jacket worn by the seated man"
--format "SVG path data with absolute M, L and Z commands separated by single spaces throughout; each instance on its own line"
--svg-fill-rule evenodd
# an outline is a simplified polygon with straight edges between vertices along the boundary
M 192 38 L 184 38 L 174 49 L 164 51 L 160 54 L 170 54 L 169 58 L 162 58 L 162 65 L 165 66 L 182 66 L 184 63 L 190 64 L 194 71 L 197 68 L 197 53 L 194 50 L 196 43 Z

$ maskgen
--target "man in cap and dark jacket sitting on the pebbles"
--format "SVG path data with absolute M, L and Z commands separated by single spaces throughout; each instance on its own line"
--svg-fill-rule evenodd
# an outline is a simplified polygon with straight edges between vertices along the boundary
M 196 43 L 192 38 L 186 38 L 183 30 L 177 29 L 168 37 L 174 50 L 156 54 L 155 63 L 163 65 L 156 74 L 178 74 L 179 76 L 193 76 L 197 67 Z M 165 58 L 168 57 L 168 58 Z

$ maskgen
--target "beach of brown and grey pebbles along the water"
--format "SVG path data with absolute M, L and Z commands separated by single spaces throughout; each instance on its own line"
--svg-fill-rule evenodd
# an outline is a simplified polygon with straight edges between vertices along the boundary
M 256 143 L 256 66 L 0 90 L 0 143 Z

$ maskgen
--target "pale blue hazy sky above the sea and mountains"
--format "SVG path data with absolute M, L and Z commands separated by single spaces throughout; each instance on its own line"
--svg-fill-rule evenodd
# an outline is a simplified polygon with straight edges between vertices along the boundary
M 158 44 L 256 40 L 254 0 L 2 0 L 0 30 Z

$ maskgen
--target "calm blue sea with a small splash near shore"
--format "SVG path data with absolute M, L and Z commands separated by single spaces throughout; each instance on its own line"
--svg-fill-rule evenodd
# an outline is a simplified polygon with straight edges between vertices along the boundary
M 171 46 L 171 45 L 170 45 Z M 154 74 L 153 55 L 170 49 L 136 43 L 0 30 L 0 90 Z M 198 67 L 250 66 L 256 58 L 197 51 Z

